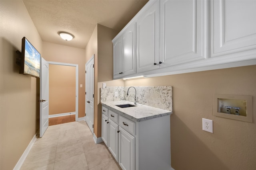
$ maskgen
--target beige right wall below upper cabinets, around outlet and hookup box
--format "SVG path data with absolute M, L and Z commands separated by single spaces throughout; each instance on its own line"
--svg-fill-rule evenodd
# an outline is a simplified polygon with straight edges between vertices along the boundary
M 125 86 L 173 86 L 171 160 L 175 170 L 256 168 L 256 65 L 127 80 Z M 213 116 L 214 94 L 253 96 L 253 123 Z M 202 131 L 213 120 L 213 134 Z

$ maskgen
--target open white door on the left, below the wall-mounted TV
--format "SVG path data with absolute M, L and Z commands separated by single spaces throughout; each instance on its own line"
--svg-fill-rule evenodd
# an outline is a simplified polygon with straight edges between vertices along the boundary
M 49 126 L 49 63 L 41 57 L 40 65 L 40 137 Z

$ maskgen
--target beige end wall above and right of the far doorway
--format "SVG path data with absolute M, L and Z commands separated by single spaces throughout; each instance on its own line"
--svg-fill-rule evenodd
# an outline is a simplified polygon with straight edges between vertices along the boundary
M 78 64 L 78 117 L 85 115 L 85 50 L 58 45 L 54 43 L 43 42 L 42 57 L 46 61 L 59 63 Z M 80 84 L 83 85 L 80 88 Z

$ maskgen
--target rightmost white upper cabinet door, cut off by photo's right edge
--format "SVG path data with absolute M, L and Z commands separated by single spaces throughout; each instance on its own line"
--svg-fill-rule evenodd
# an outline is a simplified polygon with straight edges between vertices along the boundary
M 212 12 L 212 57 L 256 48 L 255 0 L 213 0 Z

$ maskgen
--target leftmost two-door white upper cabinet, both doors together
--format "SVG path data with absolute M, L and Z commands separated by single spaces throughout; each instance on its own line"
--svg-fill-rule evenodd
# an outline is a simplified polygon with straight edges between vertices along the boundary
M 113 77 L 122 78 L 136 73 L 136 23 L 113 40 Z

